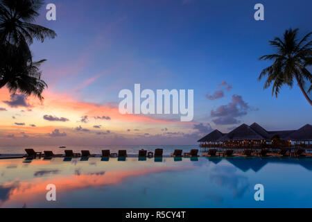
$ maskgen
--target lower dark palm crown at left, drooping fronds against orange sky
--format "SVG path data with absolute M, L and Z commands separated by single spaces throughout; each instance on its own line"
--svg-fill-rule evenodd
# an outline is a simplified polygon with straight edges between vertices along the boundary
M 17 91 L 28 96 L 33 94 L 42 101 L 42 92 L 47 85 L 41 79 L 39 67 L 45 60 L 33 62 L 31 54 L 23 47 L 0 46 L 0 88 L 6 85 L 12 94 Z

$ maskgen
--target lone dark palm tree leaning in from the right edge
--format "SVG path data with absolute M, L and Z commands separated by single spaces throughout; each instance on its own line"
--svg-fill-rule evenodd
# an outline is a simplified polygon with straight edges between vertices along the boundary
M 272 86 L 272 95 L 279 94 L 279 89 L 282 85 L 288 85 L 293 87 L 294 78 L 300 87 L 302 94 L 306 100 L 312 105 L 312 101 L 307 93 L 312 90 L 312 85 L 306 91 L 304 86 L 306 82 L 312 84 L 312 75 L 307 69 L 309 65 L 312 65 L 312 41 L 309 41 L 311 33 L 306 34 L 302 40 L 297 40 L 298 29 L 289 29 L 284 33 L 283 40 L 279 37 L 275 37 L 270 41 L 270 45 L 275 47 L 276 53 L 272 55 L 261 56 L 259 60 L 273 60 L 273 64 L 266 69 L 263 69 L 259 76 L 261 78 L 268 76 L 264 89 Z

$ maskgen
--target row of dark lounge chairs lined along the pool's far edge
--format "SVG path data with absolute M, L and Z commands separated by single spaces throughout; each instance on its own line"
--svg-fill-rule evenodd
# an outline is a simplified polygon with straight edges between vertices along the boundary
M 52 151 L 44 151 L 42 154 L 41 152 L 35 152 L 32 148 L 28 148 L 25 150 L 27 153 L 27 157 L 33 158 L 41 158 L 42 156 L 45 158 L 50 157 L 96 157 L 95 154 L 91 154 L 89 151 L 81 151 L 80 153 L 73 153 L 71 150 L 64 151 L 64 155 L 62 154 L 54 154 Z M 151 153 L 151 152 L 150 152 Z M 157 148 L 155 149 L 155 153 L 150 155 L 147 153 L 146 150 L 139 151 L 139 157 L 163 157 L 163 149 Z M 305 153 L 304 149 L 297 149 L 293 153 L 289 153 L 288 149 L 280 149 L 277 153 L 269 153 L 268 149 L 262 149 L 259 152 L 253 152 L 252 150 L 245 150 L 243 153 L 235 153 L 233 150 L 226 150 L 224 152 L 218 152 L 216 149 L 210 149 L 208 153 L 203 154 L 202 156 L 205 157 L 214 157 L 214 156 L 224 156 L 224 157 L 231 157 L 231 156 L 261 156 L 261 157 L 268 157 L 268 156 L 295 156 L 295 157 L 303 157 L 309 154 Z M 171 154 L 172 157 L 199 157 L 198 149 L 192 149 L 189 153 L 183 153 L 182 150 L 175 150 L 174 153 Z M 128 157 L 127 151 L 120 150 L 118 153 L 110 153 L 110 150 L 103 150 L 101 157 Z

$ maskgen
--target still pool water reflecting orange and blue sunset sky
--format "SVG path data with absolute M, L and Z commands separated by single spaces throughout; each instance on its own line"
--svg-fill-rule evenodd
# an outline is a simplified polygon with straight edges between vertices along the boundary
M 312 207 L 311 158 L 160 161 L 1 160 L 0 207 Z M 46 201 L 48 184 L 56 202 Z

